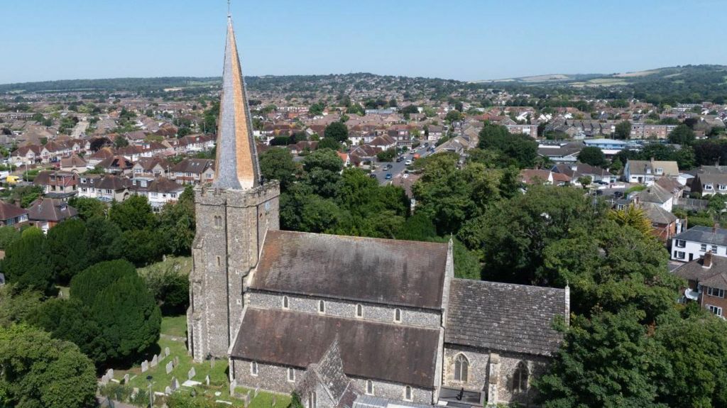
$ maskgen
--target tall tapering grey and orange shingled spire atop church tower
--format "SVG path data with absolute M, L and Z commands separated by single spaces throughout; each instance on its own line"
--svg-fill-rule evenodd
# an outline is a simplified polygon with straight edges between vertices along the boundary
M 212 186 L 222 189 L 251 189 L 259 186 L 260 168 L 252 135 L 252 120 L 229 11 L 219 121 Z

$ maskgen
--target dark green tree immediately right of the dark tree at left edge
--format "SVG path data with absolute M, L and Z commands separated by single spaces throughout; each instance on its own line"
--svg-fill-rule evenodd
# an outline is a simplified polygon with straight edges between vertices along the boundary
M 90 248 L 86 224 L 80 219 L 69 219 L 49 229 L 48 250 L 57 282 L 67 285 L 89 266 Z

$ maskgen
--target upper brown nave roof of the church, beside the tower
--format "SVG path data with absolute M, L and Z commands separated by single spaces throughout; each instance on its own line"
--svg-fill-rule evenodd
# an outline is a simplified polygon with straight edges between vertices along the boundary
M 253 290 L 441 309 L 447 244 L 268 231 Z

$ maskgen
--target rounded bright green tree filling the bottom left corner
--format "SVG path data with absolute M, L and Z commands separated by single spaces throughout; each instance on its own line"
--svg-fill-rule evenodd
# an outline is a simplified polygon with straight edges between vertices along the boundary
M 96 375 L 78 346 L 28 326 L 0 327 L 0 404 L 92 408 Z

